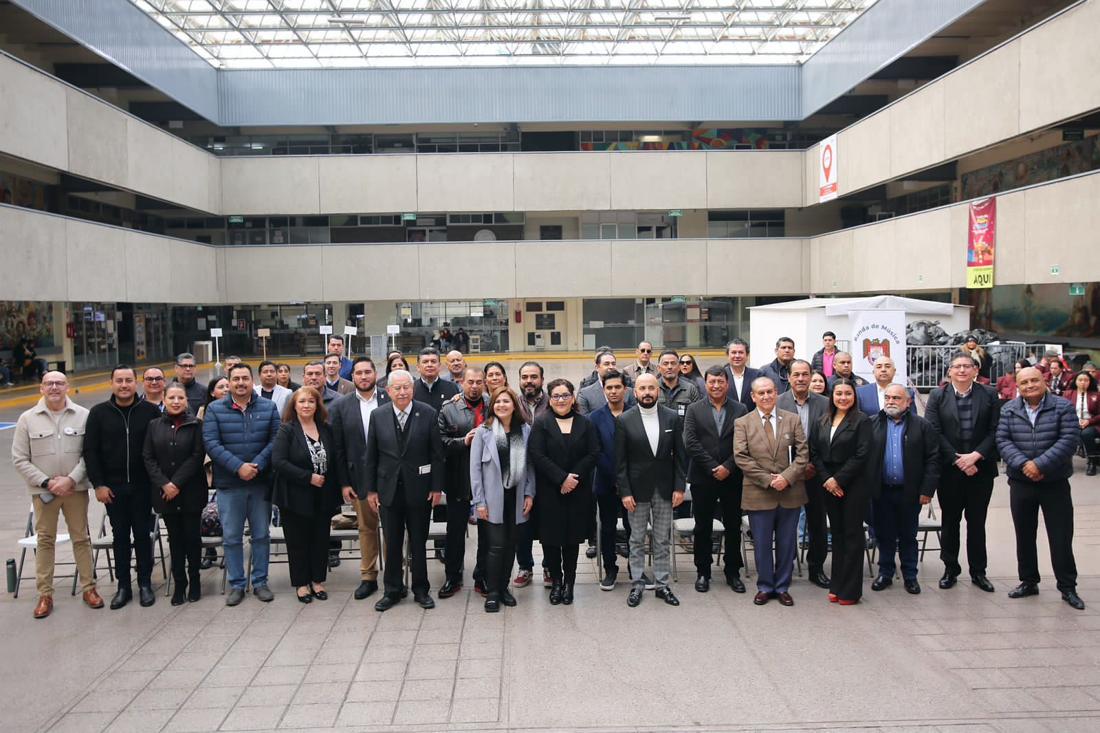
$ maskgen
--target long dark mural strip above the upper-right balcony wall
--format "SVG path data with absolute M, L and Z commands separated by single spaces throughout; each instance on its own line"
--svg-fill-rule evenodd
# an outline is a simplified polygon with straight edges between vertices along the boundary
M 1063 143 L 963 174 L 963 200 L 1100 168 L 1100 136 Z

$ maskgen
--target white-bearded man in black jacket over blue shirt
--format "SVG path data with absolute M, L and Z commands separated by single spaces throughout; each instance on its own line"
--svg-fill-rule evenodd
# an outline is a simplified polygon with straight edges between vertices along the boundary
M 875 467 L 879 488 L 871 505 L 879 544 L 879 575 L 871 590 L 893 583 L 894 548 L 901 559 L 905 590 L 920 593 L 916 580 L 916 533 L 921 507 L 932 501 L 939 482 L 939 437 L 932 424 L 909 413 L 909 391 L 891 384 L 882 393 L 884 406 L 871 419 Z

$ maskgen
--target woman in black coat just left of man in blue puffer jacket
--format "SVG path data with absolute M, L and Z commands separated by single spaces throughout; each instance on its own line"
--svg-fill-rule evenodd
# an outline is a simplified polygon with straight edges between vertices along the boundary
M 202 595 L 199 560 L 202 538 L 199 517 L 207 503 L 202 459 L 202 422 L 187 407 L 187 391 L 179 382 L 164 389 L 164 414 L 148 424 L 142 451 L 153 486 L 153 508 L 164 517 L 176 588 L 172 604 L 195 602 Z

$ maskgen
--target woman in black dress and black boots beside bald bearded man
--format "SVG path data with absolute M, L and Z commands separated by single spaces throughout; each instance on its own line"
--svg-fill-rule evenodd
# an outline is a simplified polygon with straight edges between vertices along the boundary
M 592 477 L 600 455 L 596 429 L 576 412 L 573 384 L 547 387 L 550 409 L 535 419 L 527 456 L 535 466 L 539 540 L 553 584 L 550 603 L 573 602 L 578 546 L 592 536 Z

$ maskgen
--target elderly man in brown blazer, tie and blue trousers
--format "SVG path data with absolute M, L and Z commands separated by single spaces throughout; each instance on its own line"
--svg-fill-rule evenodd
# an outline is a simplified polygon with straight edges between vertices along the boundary
M 763 605 L 778 597 L 783 605 L 794 605 L 788 589 L 794 567 L 799 508 L 806 503 L 803 472 L 810 449 L 799 416 L 776 409 L 774 382 L 760 376 L 752 381 L 751 389 L 756 409 L 734 423 L 734 462 L 745 474 L 741 507 L 752 530 L 758 591 L 752 602 Z

